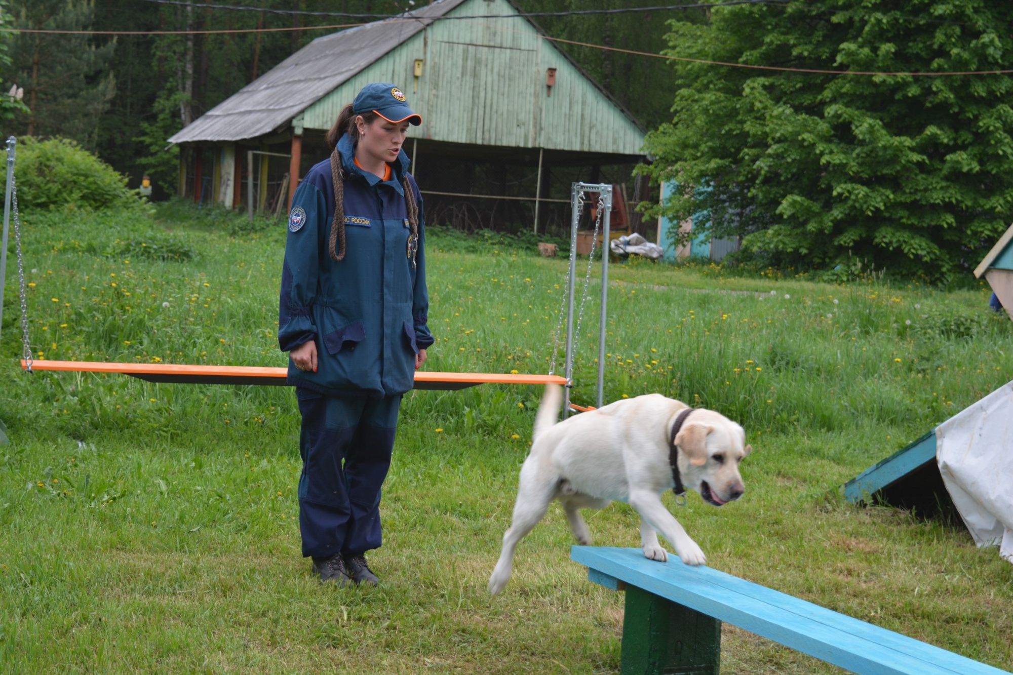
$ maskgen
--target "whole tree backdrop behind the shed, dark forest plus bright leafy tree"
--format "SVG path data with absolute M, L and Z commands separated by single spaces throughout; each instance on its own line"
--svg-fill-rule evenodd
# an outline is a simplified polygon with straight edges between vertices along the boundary
M 532 13 L 643 6 L 513 1 Z M 130 188 L 150 174 L 164 199 L 174 132 L 310 41 L 411 2 L 0 0 L 3 25 L 19 31 L 0 40 L 0 80 L 24 90 L 0 96 L 0 131 L 73 139 Z M 534 20 L 598 46 L 556 43 L 651 130 L 639 170 L 685 186 L 641 204 L 648 221 L 692 218 L 694 237 L 737 237 L 736 260 L 754 270 L 969 283 L 1013 221 L 1008 0 L 756 0 Z

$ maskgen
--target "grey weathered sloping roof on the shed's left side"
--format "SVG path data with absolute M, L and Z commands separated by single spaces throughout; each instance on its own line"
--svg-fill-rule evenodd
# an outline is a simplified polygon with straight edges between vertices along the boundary
M 269 134 L 420 31 L 432 17 L 463 2 L 437 0 L 393 19 L 318 38 L 205 113 L 169 143 L 240 141 Z

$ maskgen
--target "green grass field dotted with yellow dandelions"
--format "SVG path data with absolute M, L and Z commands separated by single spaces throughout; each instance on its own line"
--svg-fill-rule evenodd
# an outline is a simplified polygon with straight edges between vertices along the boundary
M 40 358 L 281 366 L 284 227 L 178 206 L 26 226 Z M 428 242 L 430 370 L 543 373 L 565 261 Z M 441 250 L 445 248 L 447 250 Z M 413 392 L 384 491 L 379 589 L 300 556 L 287 387 L 20 372 L 0 343 L 0 671 L 616 673 L 622 595 L 588 583 L 556 507 L 485 585 L 541 391 Z M 597 268 L 596 268 L 597 275 Z M 661 392 L 739 422 L 746 496 L 676 511 L 709 565 L 1003 669 L 1013 566 L 960 527 L 848 505 L 839 486 L 1013 379 L 985 289 L 614 266 L 606 398 Z M 591 289 L 597 297 L 598 287 Z M 591 402 L 597 302 L 576 402 Z M 637 546 L 625 505 L 586 513 Z M 722 673 L 842 672 L 730 626 Z

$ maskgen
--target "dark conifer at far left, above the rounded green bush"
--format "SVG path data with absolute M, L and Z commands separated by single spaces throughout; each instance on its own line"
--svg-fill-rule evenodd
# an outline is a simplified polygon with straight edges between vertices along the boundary
M 14 0 L 14 28 L 80 30 L 89 27 L 90 0 Z M 64 136 L 94 148 L 98 120 L 115 92 L 106 67 L 114 45 L 88 35 L 20 32 L 6 79 L 23 83 L 30 111 L 15 118 L 28 136 Z

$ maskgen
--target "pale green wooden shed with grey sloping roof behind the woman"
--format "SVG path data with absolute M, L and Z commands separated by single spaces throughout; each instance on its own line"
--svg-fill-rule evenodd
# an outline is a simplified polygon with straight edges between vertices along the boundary
M 313 41 L 175 134 L 179 194 L 287 209 L 299 176 L 329 155 L 323 137 L 341 107 L 377 81 L 422 117 L 405 151 L 428 214 L 470 204 L 530 224 L 565 208 L 570 179 L 642 159 L 643 128 L 510 0 L 438 0 Z

